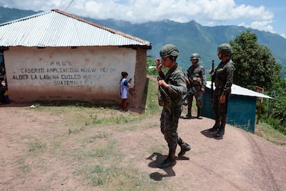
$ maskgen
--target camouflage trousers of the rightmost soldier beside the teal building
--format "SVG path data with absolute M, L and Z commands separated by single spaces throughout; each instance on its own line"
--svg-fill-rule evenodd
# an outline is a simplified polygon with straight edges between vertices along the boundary
M 229 100 L 229 93 L 225 96 L 225 103 L 220 103 L 220 96 L 222 95 L 223 89 L 215 89 L 213 91 L 213 113 L 216 117 L 216 125 L 225 128 L 227 122 L 227 102 Z

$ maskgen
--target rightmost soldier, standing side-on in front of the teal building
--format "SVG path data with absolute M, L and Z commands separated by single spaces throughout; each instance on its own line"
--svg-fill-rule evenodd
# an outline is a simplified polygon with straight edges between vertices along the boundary
M 218 46 L 218 58 L 221 60 L 216 67 L 212 78 L 214 78 L 216 89 L 213 92 L 213 113 L 216 123 L 209 131 L 217 131 L 215 137 L 225 134 L 225 124 L 227 122 L 227 102 L 231 95 L 231 85 L 233 83 L 234 63 L 230 59 L 232 48 L 229 44 Z M 213 71 L 211 71 L 212 73 Z

